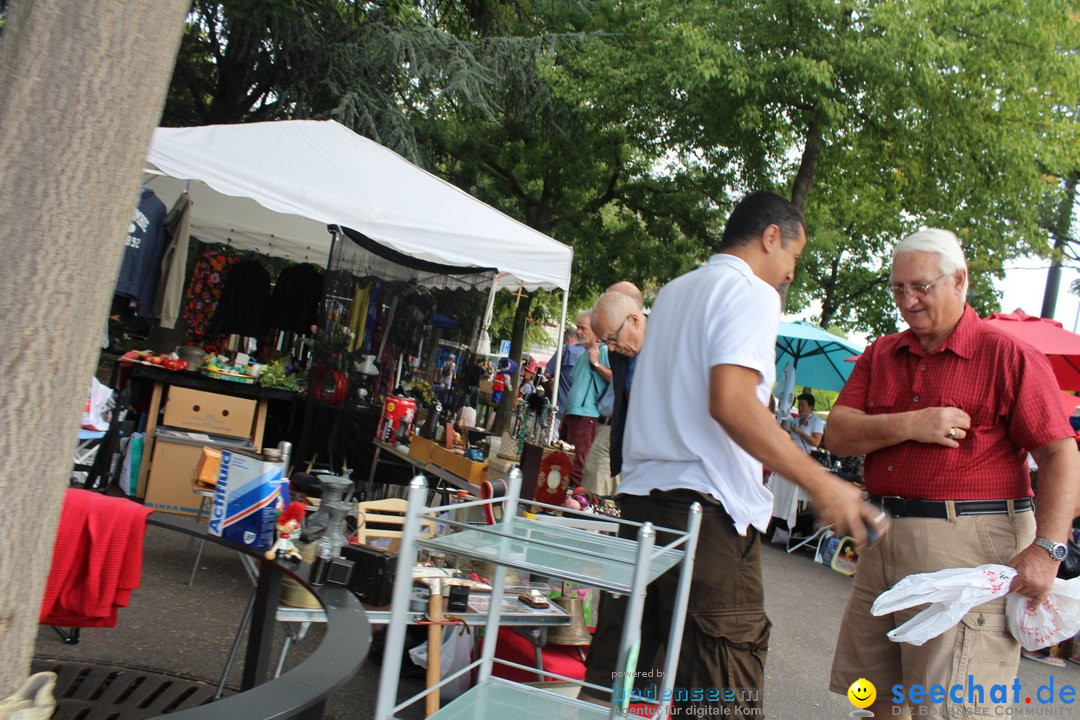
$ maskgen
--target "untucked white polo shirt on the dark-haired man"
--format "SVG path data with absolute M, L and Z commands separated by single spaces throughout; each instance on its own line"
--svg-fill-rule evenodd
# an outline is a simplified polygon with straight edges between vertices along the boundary
M 708 376 L 716 365 L 756 370 L 757 398 L 768 405 L 779 327 L 780 295 L 733 255 L 714 255 L 664 286 L 634 372 L 620 493 L 696 490 L 718 500 L 739 533 L 766 530 L 772 493 L 761 463 L 710 415 Z

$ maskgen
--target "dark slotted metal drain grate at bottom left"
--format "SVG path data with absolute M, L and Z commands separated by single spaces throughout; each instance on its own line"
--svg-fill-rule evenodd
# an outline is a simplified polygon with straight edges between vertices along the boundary
M 141 720 L 214 702 L 214 685 L 160 673 L 35 658 L 43 670 L 57 676 L 53 720 Z

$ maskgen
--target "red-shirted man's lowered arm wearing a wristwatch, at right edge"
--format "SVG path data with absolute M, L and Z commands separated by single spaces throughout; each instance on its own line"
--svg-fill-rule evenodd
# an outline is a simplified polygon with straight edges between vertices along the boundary
M 1054 440 L 1032 450 L 1031 454 L 1039 465 L 1035 534 L 1064 543 L 1076 517 L 1080 493 L 1080 456 L 1076 440 L 1071 437 Z M 1059 563 L 1045 548 L 1032 544 L 1017 553 L 1009 565 L 1020 571 L 1010 590 L 1041 600 L 1050 593 Z

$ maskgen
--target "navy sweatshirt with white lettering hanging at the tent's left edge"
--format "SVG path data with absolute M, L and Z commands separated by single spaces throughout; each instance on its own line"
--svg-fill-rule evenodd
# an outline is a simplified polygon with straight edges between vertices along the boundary
M 161 255 L 165 249 L 165 203 L 150 188 L 139 191 L 124 245 L 116 293 L 133 299 L 136 311 L 148 315 L 153 310 Z

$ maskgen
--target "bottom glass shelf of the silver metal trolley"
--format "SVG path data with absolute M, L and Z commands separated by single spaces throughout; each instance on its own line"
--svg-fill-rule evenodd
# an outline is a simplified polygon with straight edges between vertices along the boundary
M 456 697 L 431 720 L 607 720 L 610 714 L 607 705 L 490 678 Z

